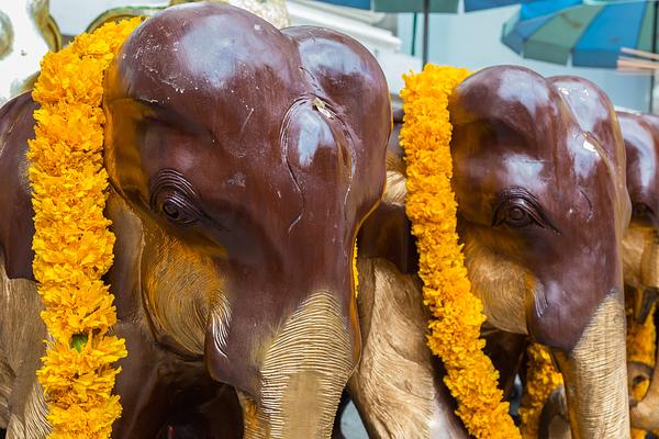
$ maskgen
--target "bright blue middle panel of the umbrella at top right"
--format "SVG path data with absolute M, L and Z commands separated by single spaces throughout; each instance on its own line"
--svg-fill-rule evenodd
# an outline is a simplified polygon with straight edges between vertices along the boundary
M 572 65 L 615 67 L 621 47 L 636 47 L 645 2 L 608 4 L 590 23 L 572 52 Z

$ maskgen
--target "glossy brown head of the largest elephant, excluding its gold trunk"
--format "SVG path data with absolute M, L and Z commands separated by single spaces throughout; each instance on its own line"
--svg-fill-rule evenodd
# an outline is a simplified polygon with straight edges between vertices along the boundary
M 182 5 L 127 38 L 105 86 L 105 165 L 143 223 L 158 340 L 258 403 L 282 325 L 325 292 L 354 365 L 353 243 L 391 125 L 372 56 L 332 31 Z

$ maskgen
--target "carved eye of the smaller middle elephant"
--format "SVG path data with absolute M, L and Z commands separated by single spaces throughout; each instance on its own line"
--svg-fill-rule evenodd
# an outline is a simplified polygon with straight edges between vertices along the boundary
M 558 233 L 545 216 L 538 201 L 523 188 L 512 188 L 499 194 L 492 226 L 502 224 L 512 228 L 536 225 Z

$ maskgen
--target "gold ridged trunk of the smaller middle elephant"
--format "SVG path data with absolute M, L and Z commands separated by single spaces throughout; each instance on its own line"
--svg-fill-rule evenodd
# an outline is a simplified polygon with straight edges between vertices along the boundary
M 629 437 L 625 312 L 618 294 L 597 307 L 577 346 L 554 353 L 566 383 L 574 439 Z

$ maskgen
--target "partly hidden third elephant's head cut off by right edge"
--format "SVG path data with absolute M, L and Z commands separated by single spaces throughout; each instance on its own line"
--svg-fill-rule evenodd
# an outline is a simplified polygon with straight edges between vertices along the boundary
M 659 289 L 659 116 L 618 112 L 627 151 L 627 190 L 633 205 L 632 223 L 623 239 L 626 293 L 634 304 L 632 317 L 643 324 L 658 299 Z M 650 380 L 643 401 L 632 399 L 632 426 L 659 428 L 659 368 L 630 362 L 629 385 Z

